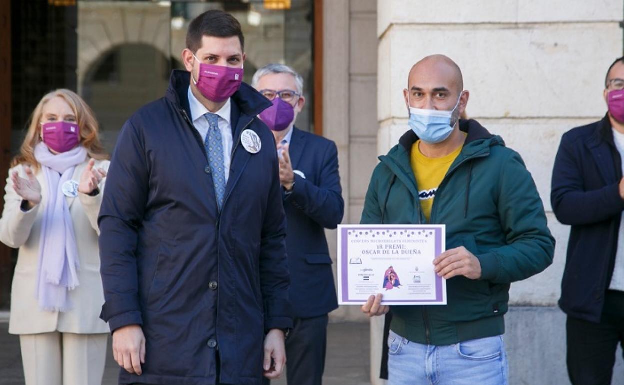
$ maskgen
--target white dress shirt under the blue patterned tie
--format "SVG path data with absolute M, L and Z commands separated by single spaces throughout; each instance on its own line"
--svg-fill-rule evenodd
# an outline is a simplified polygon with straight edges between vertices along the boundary
M 204 116 L 208 114 L 208 109 L 200 103 L 193 95 L 190 85 L 188 86 L 188 104 L 190 105 L 191 120 L 197 132 L 202 137 L 202 141 L 206 142 L 206 135 L 210 125 Z M 223 141 L 223 163 L 225 165 L 225 183 L 230 178 L 230 165 L 232 164 L 232 147 L 234 146 L 234 137 L 232 134 L 232 99 L 228 98 L 223 107 L 214 113 L 219 115 L 219 130 L 221 131 L 221 139 Z

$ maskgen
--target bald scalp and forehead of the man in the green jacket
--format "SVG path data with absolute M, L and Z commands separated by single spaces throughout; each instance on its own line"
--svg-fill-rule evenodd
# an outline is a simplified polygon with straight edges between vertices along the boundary
M 409 71 L 407 88 L 418 87 L 426 79 L 429 79 L 429 82 L 434 80 L 439 85 L 444 84 L 445 87 L 456 92 L 458 96 L 464 90 L 462 70 L 459 69 L 456 62 L 444 55 L 427 56 L 414 64 L 414 67 Z

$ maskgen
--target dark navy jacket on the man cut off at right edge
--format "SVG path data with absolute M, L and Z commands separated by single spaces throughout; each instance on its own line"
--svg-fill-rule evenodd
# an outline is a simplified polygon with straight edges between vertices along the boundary
M 559 306 L 595 323 L 613 276 L 624 210 L 620 159 L 605 117 L 563 135 L 552 174 L 553 212 L 572 225 Z

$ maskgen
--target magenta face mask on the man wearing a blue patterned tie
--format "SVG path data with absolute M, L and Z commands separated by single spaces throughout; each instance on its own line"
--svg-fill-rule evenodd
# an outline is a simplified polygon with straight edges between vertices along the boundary
M 199 62 L 197 56 L 193 55 L 193 57 Z M 221 103 L 238 91 L 243 82 L 243 73 L 242 68 L 215 66 L 200 62 L 199 79 L 197 81 L 193 79 L 193 82 L 203 97 L 212 102 Z

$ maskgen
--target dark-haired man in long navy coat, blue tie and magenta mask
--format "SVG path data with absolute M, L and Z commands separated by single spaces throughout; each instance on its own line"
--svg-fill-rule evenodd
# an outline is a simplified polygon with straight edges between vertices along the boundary
M 208 11 L 187 71 L 124 125 L 100 211 L 120 384 L 262 383 L 285 365 L 286 222 L 271 104 L 243 79 L 243 34 Z

